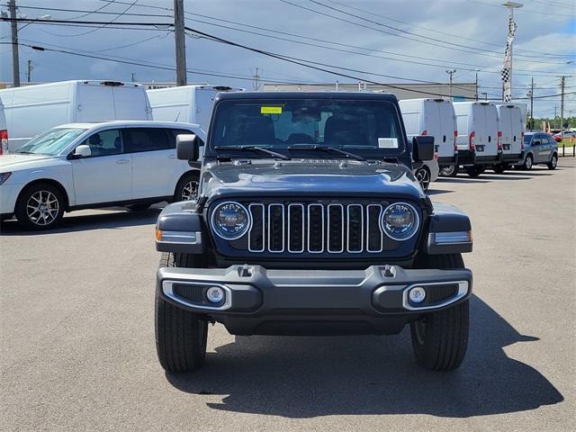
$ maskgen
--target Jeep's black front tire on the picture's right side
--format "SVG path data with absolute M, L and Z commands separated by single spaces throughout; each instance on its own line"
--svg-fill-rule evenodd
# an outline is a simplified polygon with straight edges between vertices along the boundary
M 424 256 L 421 268 L 461 269 L 460 254 Z M 431 371 L 452 371 L 464 360 L 470 329 L 470 302 L 465 300 L 448 309 L 423 314 L 410 323 L 412 349 L 416 362 Z

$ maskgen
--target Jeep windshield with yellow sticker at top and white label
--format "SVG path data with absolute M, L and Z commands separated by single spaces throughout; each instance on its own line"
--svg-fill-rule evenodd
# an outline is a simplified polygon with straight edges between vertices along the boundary
M 299 145 L 302 149 L 321 145 L 386 157 L 405 149 L 399 114 L 386 101 L 224 100 L 218 103 L 214 119 L 211 149 L 219 151 L 257 146 L 288 153 L 302 151 Z

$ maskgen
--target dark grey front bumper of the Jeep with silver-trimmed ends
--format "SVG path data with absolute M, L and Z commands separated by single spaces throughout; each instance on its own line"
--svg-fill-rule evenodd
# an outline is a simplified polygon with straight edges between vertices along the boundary
M 472 293 L 468 269 L 270 270 L 262 266 L 173 268 L 157 271 L 157 290 L 178 307 L 210 316 L 232 334 L 398 333 L 410 320 L 462 302 Z M 219 304 L 206 290 L 219 286 Z M 409 291 L 423 287 L 424 302 Z

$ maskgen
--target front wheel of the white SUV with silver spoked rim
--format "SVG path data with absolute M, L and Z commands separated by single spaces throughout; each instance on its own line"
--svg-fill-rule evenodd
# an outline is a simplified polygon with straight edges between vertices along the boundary
M 14 214 L 28 229 L 52 229 L 64 216 L 64 196 L 52 184 L 37 183 L 24 188 Z

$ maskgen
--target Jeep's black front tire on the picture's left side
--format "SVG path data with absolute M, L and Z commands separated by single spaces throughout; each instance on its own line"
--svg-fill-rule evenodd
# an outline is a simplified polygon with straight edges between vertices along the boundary
M 197 267 L 201 263 L 190 254 L 163 253 L 160 267 Z M 167 302 L 156 293 L 156 349 L 160 365 L 171 373 L 192 372 L 206 356 L 208 321 Z

